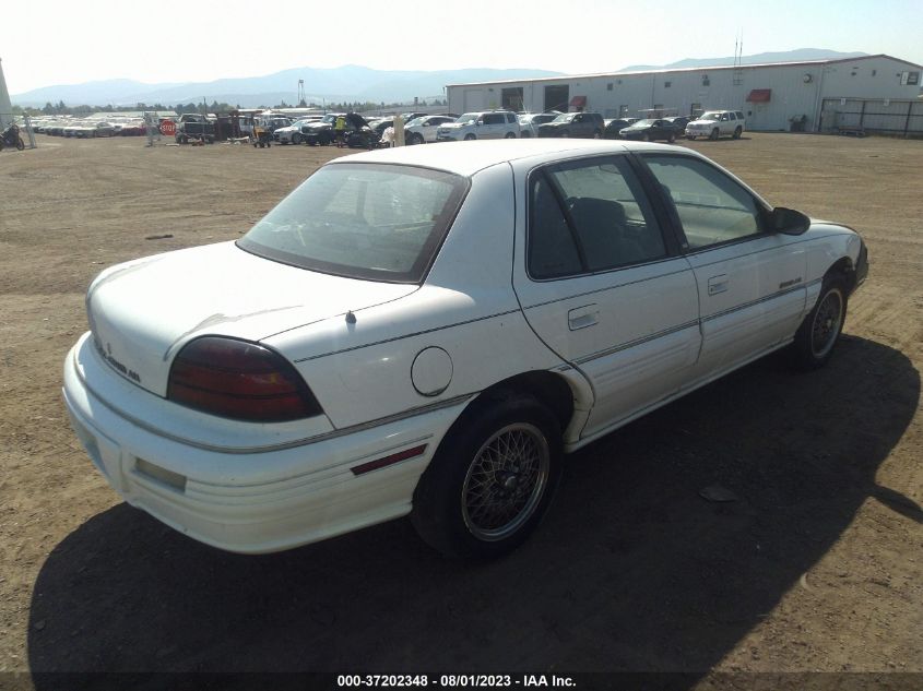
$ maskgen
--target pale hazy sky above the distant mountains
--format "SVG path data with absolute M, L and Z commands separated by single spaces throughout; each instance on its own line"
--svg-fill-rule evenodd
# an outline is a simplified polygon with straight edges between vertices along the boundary
M 21 7 L 16 26 L 0 35 L 0 60 L 13 96 L 111 79 L 210 82 L 343 64 L 587 74 L 733 56 L 741 39 L 743 55 L 825 48 L 923 63 L 923 0 L 169 0 L 130 5 L 46 0 Z

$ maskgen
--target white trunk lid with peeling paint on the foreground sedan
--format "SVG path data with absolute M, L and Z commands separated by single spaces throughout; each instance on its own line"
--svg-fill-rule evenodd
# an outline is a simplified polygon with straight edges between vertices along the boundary
M 173 359 L 197 336 L 260 341 L 416 289 L 288 266 L 224 242 L 114 267 L 90 287 L 86 307 L 100 356 L 163 396 Z

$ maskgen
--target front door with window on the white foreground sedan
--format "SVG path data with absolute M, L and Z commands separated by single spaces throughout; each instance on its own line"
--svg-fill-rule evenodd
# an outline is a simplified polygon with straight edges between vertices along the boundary
M 683 154 L 641 159 L 665 193 L 695 272 L 702 333 L 696 380 L 791 338 L 805 310 L 803 240 L 765 230 L 766 205 L 710 162 Z

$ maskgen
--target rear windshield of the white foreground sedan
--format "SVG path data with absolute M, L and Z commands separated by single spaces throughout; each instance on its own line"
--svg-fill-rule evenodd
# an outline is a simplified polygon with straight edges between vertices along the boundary
M 323 273 L 419 283 L 468 190 L 461 176 L 381 164 L 320 168 L 237 241 Z

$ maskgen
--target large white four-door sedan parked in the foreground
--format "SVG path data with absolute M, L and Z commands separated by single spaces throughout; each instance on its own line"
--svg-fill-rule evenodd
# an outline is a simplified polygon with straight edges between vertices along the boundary
M 780 348 L 831 356 L 853 230 L 658 144 L 338 158 L 236 242 L 104 271 L 63 394 L 129 503 L 269 552 L 410 514 L 519 545 L 561 455 Z

